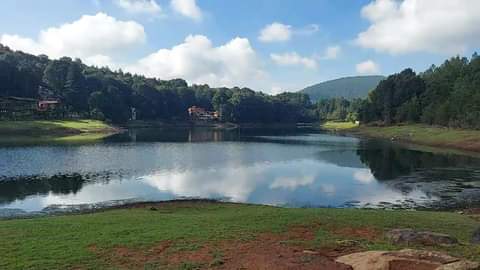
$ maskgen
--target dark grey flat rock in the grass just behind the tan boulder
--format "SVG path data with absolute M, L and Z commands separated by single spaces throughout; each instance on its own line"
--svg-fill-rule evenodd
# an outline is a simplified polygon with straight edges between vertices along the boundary
M 395 229 L 387 233 L 394 244 L 421 244 L 426 246 L 454 245 L 458 240 L 448 234 L 417 232 L 412 229 Z

